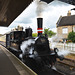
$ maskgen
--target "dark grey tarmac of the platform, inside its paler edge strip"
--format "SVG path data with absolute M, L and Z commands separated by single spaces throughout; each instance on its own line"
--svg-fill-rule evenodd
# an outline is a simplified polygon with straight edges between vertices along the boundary
M 20 75 L 0 46 L 0 75 Z

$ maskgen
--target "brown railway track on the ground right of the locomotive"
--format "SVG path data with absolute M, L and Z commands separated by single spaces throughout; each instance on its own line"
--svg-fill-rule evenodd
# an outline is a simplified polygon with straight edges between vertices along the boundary
M 73 59 L 64 58 L 63 61 L 57 60 L 55 67 L 65 75 L 75 75 L 75 60 Z

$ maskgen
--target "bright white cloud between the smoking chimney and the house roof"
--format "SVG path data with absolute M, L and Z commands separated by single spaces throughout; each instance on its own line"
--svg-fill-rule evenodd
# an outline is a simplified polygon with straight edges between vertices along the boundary
M 53 1 L 51 2 L 47 9 L 44 11 L 43 17 L 44 17 L 44 25 L 45 27 L 49 28 L 55 28 L 56 23 L 59 19 L 59 17 L 67 16 L 68 10 L 74 8 L 75 6 L 66 4 L 64 2 L 60 1 Z M 72 14 L 75 12 L 72 11 Z

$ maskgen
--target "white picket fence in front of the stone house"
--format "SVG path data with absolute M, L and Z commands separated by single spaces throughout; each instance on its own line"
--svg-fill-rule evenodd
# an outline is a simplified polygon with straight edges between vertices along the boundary
M 75 54 L 75 43 L 56 43 L 56 42 L 53 42 L 53 43 L 50 43 L 50 47 L 51 48 L 58 48 L 60 50 L 69 50 L 71 53 L 74 53 Z

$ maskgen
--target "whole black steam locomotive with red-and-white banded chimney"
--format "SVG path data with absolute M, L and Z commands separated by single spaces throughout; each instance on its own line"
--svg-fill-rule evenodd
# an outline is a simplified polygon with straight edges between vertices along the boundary
M 27 66 L 36 73 L 50 68 L 56 62 L 58 56 L 57 48 L 51 50 L 47 36 L 42 35 L 42 18 L 37 18 L 38 36 L 32 37 L 32 29 L 25 31 L 13 31 L 6 34 L 6 47 L 19 57 Z

